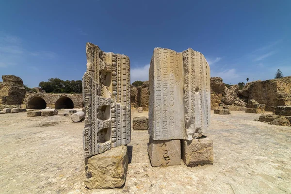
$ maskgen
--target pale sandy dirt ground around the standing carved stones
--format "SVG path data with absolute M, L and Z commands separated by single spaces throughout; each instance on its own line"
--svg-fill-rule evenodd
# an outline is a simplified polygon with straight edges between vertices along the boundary
M 151 167 L 147 131 L 132 131 L 126 183 L 89 190 L 83 183 L 83 123 L 69 117 L 0 114 L 0 193 L 9 194 L 287 194 L 291 193 L 291 128 L 259 114 L 211 113 L 205 135 L 214 164 Z M 132 110 L 132 118 L 147 115 Z M 132 153 L 131 151 L 132 150 Z

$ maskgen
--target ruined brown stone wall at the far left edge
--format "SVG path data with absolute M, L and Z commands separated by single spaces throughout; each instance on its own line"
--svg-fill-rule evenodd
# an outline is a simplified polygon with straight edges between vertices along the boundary
M 0 104 L 20 105 L 26 89 L 21 78 L 14 75 L 3 75 L 0 82 Z

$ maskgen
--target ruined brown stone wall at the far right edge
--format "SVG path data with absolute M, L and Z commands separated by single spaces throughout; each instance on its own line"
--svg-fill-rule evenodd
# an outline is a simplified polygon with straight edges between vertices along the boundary
M 291 105 L 291 76 L 249 83 L 240 92 L 248 100 L 254 99 L 266 104 L 266 111 L 273 111 L 276 106 Z

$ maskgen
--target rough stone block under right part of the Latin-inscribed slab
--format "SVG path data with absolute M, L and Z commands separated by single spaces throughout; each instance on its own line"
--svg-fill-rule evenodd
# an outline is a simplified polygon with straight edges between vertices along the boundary
M 213 144 L 208 137 L 181 140 L 181 146 L 182 159 L 187 166 L 213 164 Z

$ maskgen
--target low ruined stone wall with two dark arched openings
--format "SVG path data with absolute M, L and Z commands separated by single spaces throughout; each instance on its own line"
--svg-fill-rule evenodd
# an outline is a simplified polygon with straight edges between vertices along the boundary
M 83 96 L 82 94 L 50 94 L 50 93 L 26 93 L 23 99 L 24 108 L 29 107 L 30 101 L 34 97 L 41 97 L 47 103 L 47 107 L 55 108 L 56 102 L 61 98 L 70 98 L 74 103 L 74 108 L 83 107 Z

